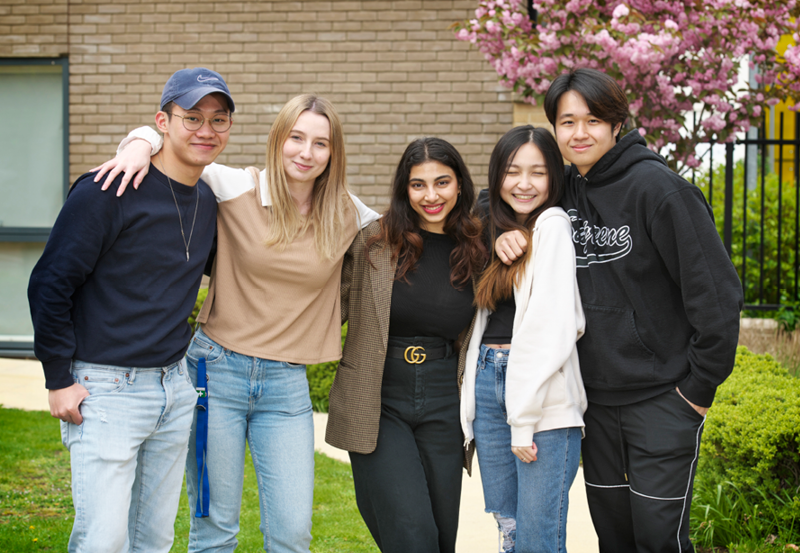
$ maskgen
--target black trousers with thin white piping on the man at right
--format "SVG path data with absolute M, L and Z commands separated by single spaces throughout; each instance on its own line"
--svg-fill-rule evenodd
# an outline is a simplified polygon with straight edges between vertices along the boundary
M 601 553 L 693 552 L 689 511 L 705 417 L 677 391 L 584 415 L 586 495 Z

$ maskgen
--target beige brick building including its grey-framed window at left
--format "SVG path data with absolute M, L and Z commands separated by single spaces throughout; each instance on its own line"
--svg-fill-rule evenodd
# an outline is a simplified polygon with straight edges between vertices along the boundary
M 511 93 L 450 26 L 477 0 L 0 0 L 0 352 L 30 351 L 27 287 L 69 183 L 153 124 L 177 69 L 225 76 L 235 126 L 219 161 L 263 165 L 270 124 L 316 92 L 345 126 L 351 189 L 381 210 L 412 139 L 435 135 L 479 187 L 512 126 Z

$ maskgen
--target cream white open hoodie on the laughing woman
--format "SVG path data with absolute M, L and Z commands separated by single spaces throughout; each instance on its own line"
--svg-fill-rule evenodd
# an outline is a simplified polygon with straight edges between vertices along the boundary
M 572 226 L 560 207 L 544 211 L 531 236 L 531 253 L 514 289 L 516 313 L 506 372 L 511 446 L 530 446 L 535 433 L 583 428 L 583 389 L 576 342 L 585 318 L 575 278 Z M 474 439 L 475 374 L 489 311 L 478 310 L 461 388 L 465 443 Z

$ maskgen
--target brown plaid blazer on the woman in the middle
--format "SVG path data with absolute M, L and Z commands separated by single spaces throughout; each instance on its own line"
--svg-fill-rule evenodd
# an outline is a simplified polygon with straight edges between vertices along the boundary
M 383 242 L 373 244 L 369 259 L 367 241 L 378 234 L 380 222 L 369 224 L 353 240 L 342 265 L 342 321 L 348 320 L 342 360 L 331 386 L 325 441 L 355 453 L 372 453 L 378 442 L 381 383 L 389 340 L 389 310 L 397 268 Z M 374 264 L 370 264 L 370 260 Z M 459 340 L 458 385 L 464 378 L 466 350 L 472 324 Z M 464 466 L 472 468 L 473 449 L 464 452 Z

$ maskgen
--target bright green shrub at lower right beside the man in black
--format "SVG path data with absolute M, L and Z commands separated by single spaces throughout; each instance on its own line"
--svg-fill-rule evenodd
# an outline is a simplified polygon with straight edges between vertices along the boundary
M 798 422 L 800 380 L 769 355 L 740 347 L 706 420 L 692 507 L 696 537 L 715 524 L 717 511 L 717 528 L 726 518 L 762 539 L 800 539 Z

